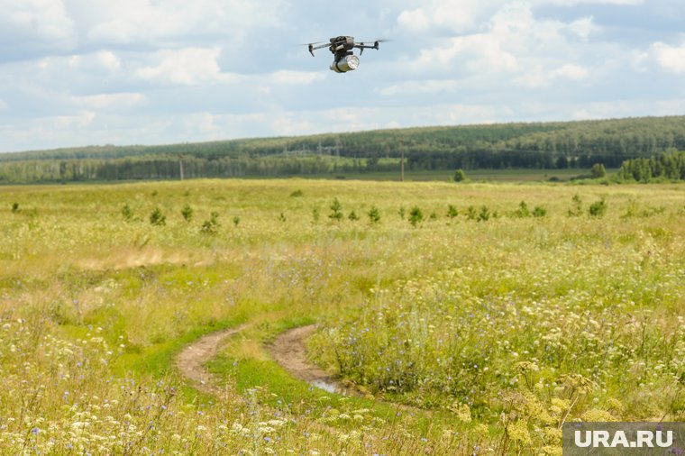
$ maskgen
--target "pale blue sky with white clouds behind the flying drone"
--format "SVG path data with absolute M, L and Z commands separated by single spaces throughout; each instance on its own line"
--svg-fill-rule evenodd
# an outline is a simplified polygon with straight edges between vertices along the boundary
M 0 0 L 0 151 L 685 114 L 682 0 L 335 4 Z

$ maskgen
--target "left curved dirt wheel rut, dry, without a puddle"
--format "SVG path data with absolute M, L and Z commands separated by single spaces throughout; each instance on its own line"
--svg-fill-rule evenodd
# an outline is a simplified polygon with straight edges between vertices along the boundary
M 178 371 L 190 380 L 195 388 L 207 394 L 218 395 L 221 390 L 216 386 L 214 376 L 205 369 L 205 362 L 218 354 L 227 338 L 240 333 L 246 327 L 247 324 L 241 324 L 234 328 L 209 333 L 187 345 L 176 357 Z

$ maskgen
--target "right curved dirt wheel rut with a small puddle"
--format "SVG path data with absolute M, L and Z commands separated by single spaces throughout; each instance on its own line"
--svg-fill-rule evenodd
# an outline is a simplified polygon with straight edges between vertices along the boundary
M 281 333 L 274 342 L 266 346 L 267 350 L 280 367 L 288 370 L 290 375 L 295 378 L 304 380 L 308 384 L 324 389 L 329 393 L 345 396 L 358 395 L 356 391 L 344 388 L 323 369 L 319 369 L 306 360 L 305 339 L 315 332 L 316 327 L 316 324 L 309 324 Z

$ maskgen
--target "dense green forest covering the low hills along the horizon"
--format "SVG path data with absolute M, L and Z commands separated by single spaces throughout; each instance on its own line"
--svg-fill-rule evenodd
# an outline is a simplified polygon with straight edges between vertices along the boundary
M 685 150 L 685 116 L 0 153 L 0 183 L 334 175 L 394 170 L 402 155 L 414 171 L 618 168 L 671 149 Z

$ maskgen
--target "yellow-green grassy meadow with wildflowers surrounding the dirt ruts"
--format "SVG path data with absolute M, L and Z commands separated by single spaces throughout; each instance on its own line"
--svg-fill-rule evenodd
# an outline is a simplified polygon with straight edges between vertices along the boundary
M 684 196 L 0 187 L 0 452 L 561 454 L 564 421 L 683 421 Z M 269 358 L 264 342 L 313 322 L 312 360 L 364 397 Z M 238 324 L 209 366 L 224 394 L 189 388 L 175 354 Z

